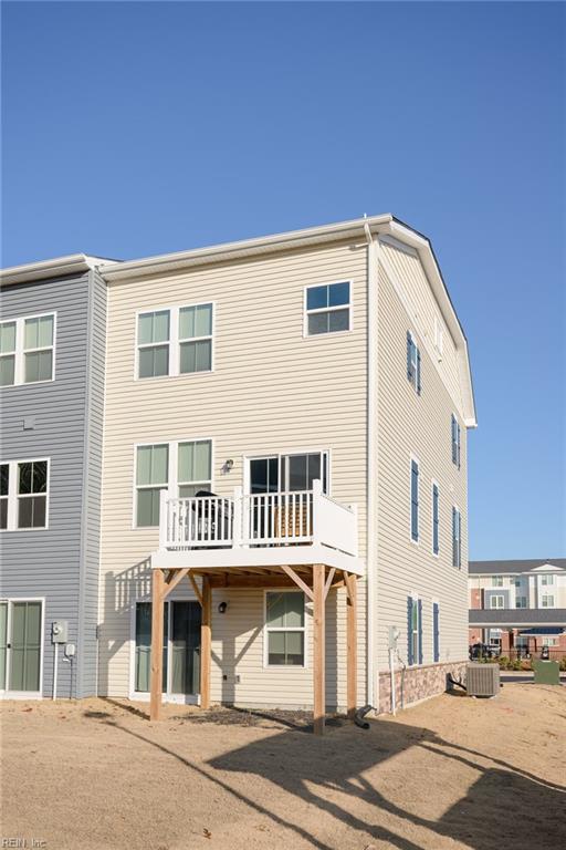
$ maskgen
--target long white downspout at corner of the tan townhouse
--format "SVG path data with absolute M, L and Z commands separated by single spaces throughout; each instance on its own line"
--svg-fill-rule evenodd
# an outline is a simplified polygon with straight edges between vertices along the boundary
M 364 225 L 367 239 L 367 683 L 366 699 L 379 708 L 379 676 L 376 675 L 377 611 L 377 318 L 379 241 Z

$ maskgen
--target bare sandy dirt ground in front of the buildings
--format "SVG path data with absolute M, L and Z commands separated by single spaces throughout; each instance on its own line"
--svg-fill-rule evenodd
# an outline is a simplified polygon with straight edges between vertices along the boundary
M 2 829 L 46 850 L 566 847 L 566 688 L 443 695 L 368 732 L 126 701 L 4 703 Z M 0 847 L 22 847 L 4 843 Z M 35 844 L 40 846 L 40 844 Z

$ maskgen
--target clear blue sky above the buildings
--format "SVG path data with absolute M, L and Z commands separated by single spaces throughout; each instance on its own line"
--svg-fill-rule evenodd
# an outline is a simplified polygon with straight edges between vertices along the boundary
M 2 265 L 394 212 L 470 342 L 470 556 L 564 557 L 565 11 L 3 3 Z

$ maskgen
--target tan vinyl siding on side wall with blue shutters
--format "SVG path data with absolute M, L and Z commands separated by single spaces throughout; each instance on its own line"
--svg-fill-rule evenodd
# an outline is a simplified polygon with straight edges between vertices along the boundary
M 395 250 L 395 249 L 391 249 Z M 401 271 L 399 272 L 401 273 Z M 423 273 L 423 272 L 422 272 Z M 418 280 L 418 276 L 412 278 Z M 461 426 L 461 468 L 452 463 L 453 401 L 429 355 L 421 325 L 410 318 L 384 267 L 379 274 L 378 317 L 378 662 L 387 667 L 388 629 L 401 631 L 407 660 L 407 597 L 422 599 L 423 664 L 433 661 L 432 600 L 440 604 L 440 662 L 460 661 L 468 650 L 467 442 Z M 415 284 L 417 286 L 417 283 Z M 418 284 L 424 288 L 426 279 Z M 426 293 L 415 292 L 413 302 Z M 421 350 L 422 391 L 407 380 L 407 331 Z M 444 336 L 444 346 L 447 339 Z M 419 462 L 419 531 L 410 537 L 410 458 Z M 432 479 L 440 488 L 440 554 L 432 554 Z M 462 569 L 452 567 L 452 505 L 462 515 Z

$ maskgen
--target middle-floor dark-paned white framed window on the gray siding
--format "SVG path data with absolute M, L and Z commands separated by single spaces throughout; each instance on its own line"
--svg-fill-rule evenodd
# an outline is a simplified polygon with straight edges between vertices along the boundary
M 48 528 L 49 458 L 0 464 L 0 530 Z

